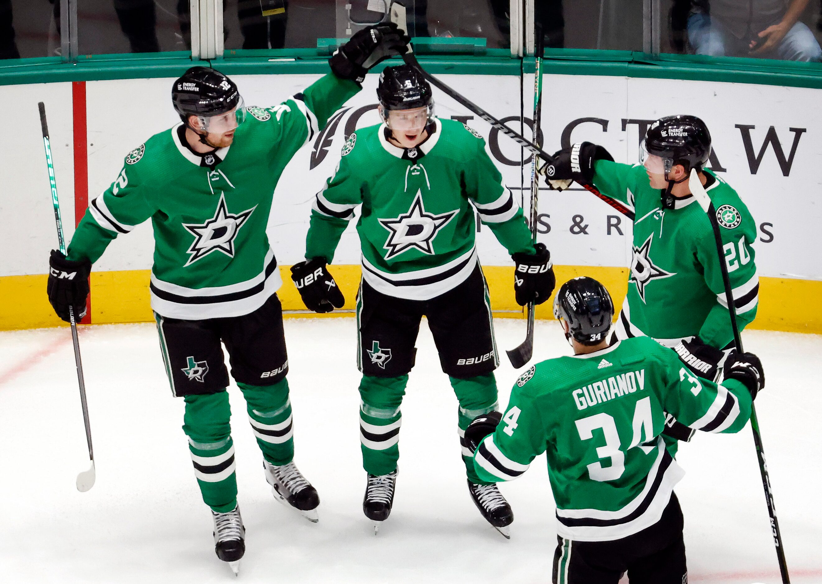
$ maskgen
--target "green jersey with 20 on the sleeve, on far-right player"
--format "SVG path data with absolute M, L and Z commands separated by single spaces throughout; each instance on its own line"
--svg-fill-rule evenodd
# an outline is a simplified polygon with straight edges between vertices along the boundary
M 617 321 L 617 337 L 647 335 L 673 347 L 681 338 L 699 335 L 712 347 L 726 347 L 733 331 L 716 242 L 695 198 L 677 199 L 675 209 L 663 209 L 660 191 L 651 188 L 641 165 L 598 160 L 595 171 L 594 185 L 632 207 L 636 215 L 628 295 Z M 731 186 L 709 170 L 705 174 L 742 329 L 754 320 L 759 301 L 751 247 L 756 223 Z

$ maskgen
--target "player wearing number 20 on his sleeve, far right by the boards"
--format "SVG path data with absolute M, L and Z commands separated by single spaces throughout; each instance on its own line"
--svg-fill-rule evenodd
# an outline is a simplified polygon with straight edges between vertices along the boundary
M 711 137 L 700 118 L 653 122 L 642 151 L 642 164 L 621 164 L 602 146 L 582 142 L 557 152 L 556 163 L 542 171 L 553 186 L 568 179 L 593 184 L 635 212 L 628 294 L 614 338 L 654 338 L 674 348 L 696 375 L 717 379 L 733 331 L 713 229 L 690 193 L 690 170 L 698 171 L 717 209 L 740 329 L 754 320 L 759 300 L 756 223 L 737 192 L 704 168 Z M 667 433 L 691 435 L 673 420 Z

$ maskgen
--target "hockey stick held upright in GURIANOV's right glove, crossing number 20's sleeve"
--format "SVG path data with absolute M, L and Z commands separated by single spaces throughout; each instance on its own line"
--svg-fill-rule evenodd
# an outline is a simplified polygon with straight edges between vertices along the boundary
M 713 239 L 716 241 L 717 253 L 719 255 L 719 268 L 722 271 L 722 281 L 725 287 L 725 301 L 727 302 L 727 312 L 731 315 L 731 328 L 733 329 L 733 340 L 737 344 L 737 351 L 742 352 L 742 337 L 737 328 L 737 306 L 733 303 L 733 292 L 731 290 L 731 278 L 727 273 L 727 265 L 725 263 L 725 251 L 722 244 L 722 235 L 719 232 L 719 223 L 717 219 L 717 211 L 713 207 L 713 203 L 702 186 L 700 175 L 695 168 L 690 170 L 690 178 L 688 179 L 688 186 L 690 192 L 699 202 L 700 207 L 708 214 L 708 219 L 713 228 Z M 774 547 L 776 548 L 776 557 L 779 562 L 779 572 L 782 574 L 783 584 L 791 582 L 787 575 L 787 563 L 785 563 L 785 550 L 782 544 L 782 534 L 779 531 L 779 522 L 776 518 L 776 507 L 774 506 L 774 492 L 771 490 L 770 476 L 768 474 L 768 465 L 765 463 L 765 453 L 762 447 L 762 436 L 760 435 L 760 422 L 756 417 L 756 408 L 754 404 L 750 404 L 750 430 L 754 433 L 754 444 L 756 446 L 756 453 L 759 455 L 757 460 L 760 463 L 760 475 L 762 476 L 762 487 L 765 491 L 765 503 L 768 504 L 768 514 L 771 520 L 771 531 L 774 533 Z

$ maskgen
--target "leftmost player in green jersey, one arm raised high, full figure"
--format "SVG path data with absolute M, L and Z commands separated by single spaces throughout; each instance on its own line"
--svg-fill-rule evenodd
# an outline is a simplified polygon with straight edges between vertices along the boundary
M 91 264 L 150 218 L 151 306 L 173 395 L 185 399 L 189 449 L 214 519 L 215 551 L 238 568 L 245 528 L 229 427 L 231 375 L 247 402 L 275 497 L 316 522 L 320 499 L 293 463 L 293 422 L 279 269 L 266 237 L 275 186 L 293 155 L 361 89 L 367 68 L 403 53 L 394 25 L 367 27 L 330 58 L 331 72 L 270 108 L 244 108 L 237 85 L 192 67 L 174 82 L 182 122 L 132 150 L 91 201 L 67 256 L 52 251 L 48 297 L 68 320 L 85 313 Z

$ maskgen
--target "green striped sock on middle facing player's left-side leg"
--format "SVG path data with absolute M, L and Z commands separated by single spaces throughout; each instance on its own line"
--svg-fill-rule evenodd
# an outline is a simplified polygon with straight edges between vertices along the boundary
M 370 475 L 387 475 L 399 460 L 399 406 L 405 395 L 408 375 L 372 377 L 360 382 L 360 447 L 363 468 Z

